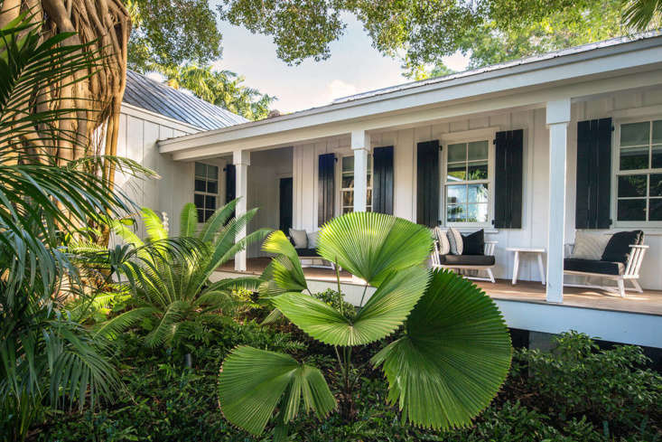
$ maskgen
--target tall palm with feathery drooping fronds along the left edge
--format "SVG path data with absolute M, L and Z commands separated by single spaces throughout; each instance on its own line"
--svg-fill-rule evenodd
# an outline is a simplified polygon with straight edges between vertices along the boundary
M 93 77 L 106 59 L 89 43 L 67 44 L 74 33 L 42 33 L 38 16 L 5 20 L 5 14 L 0 14 L 0 435 L 21 440 L 44 403 L 94 405 L 119 387 L 103 343 L 63 313 L 80 278 L 61 246 L 66 237 L 86 236 L 81 226 L 90 220 L 133 211 L 126 195 L 113 192 L 107 175 L 93 174 L 94 167 L 86 165 L 139 166 L 112 156 L 61 164 L 66 146 L 87 152 L 89 139 L 70 127 L 86 124 L 89 109 L 77 107 L 80 103 L 63 93 L 66 88 L 51 91 L 63 83 L 78 88 L 91 78 L 78 73 Z

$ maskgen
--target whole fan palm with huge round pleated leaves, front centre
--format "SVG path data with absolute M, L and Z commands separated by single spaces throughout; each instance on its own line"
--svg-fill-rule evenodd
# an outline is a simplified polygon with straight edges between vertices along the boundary
M 467 425 L 505 381 L 511 347 L 499 309 L 467 279 L 425 269 L 431 248 L 429 230 L 390 215 L 356 212 L 328 222 L 318 252 L 366 281 L 358 312 L 345 315 L 342 303 L 335 308 L 303 293 L 308 287 L 299 259 L 282 231 L 265 241 L 264 249 L 277 256 L 261 294 L 303 332 L 333 346 L 344 418 L 353 416 L 360 375 L 352 352 L 394 334 L 371 362 L 386 374 L 388 400 L 414 425 Z M 368 287 L 376 291 L 366 301 Z M 339 301 L 340 290 L 338 276 Z M 239 347 L 223 363 L 220 408 L 252 434 L 262 433 L 279 408 L 275 436 L 283 437 L 302 398 L 304 409 L 320 417 L 336 406 L 322 373 L 290 356 Z

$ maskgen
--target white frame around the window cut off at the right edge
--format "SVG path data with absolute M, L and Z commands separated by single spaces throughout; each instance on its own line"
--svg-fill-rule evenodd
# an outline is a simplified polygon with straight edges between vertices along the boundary
M 655 228 L 662 229 L 662 221 L 619 221 L 618 214 L 618 202 L 619 202 L 619 176 L 621 175 L 639 175 L 647 174 L 647 192 L 650 186 L 650 174 L 662 174 L 662 168 L 657 169 L 637 169 L 633 171 L 620 172 L 620 126 L 627 125 L 630 123 L 650 123 L 651 121 L 662 120 L 662 115 L 647 115 L 641 117 L 633 118 L 620 118 L 619 120 L 614 121 L 614 136 L 611 139 L 611 227 L 616 229 L 646 229 L 646 228 Z M 650 155 L 652 152 L 652 136 L 653 131 L 651 131 L 648 138 L 648 161 L 650 161 Z M 648 217 L 648 205 L 650 202 L 650 196 L 646 197 L 647 204 L 647 217 Z

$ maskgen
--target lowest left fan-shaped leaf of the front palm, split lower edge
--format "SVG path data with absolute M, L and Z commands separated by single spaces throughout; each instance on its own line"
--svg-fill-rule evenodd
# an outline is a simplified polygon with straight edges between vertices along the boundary
M 303 409 L 323 418 L 336 406 L 322 372 L 291 356 L 241 346 L 228 354 L 219 375 L 219 404 L 225 418 L 253 435 L 261 434 L 277 406 L 282 423 Z

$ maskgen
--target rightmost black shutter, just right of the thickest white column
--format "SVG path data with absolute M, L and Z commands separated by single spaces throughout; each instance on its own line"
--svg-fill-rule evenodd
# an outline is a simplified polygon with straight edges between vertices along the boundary
M 611 226 L 611 118 L 577 123 L 576 229 Z

